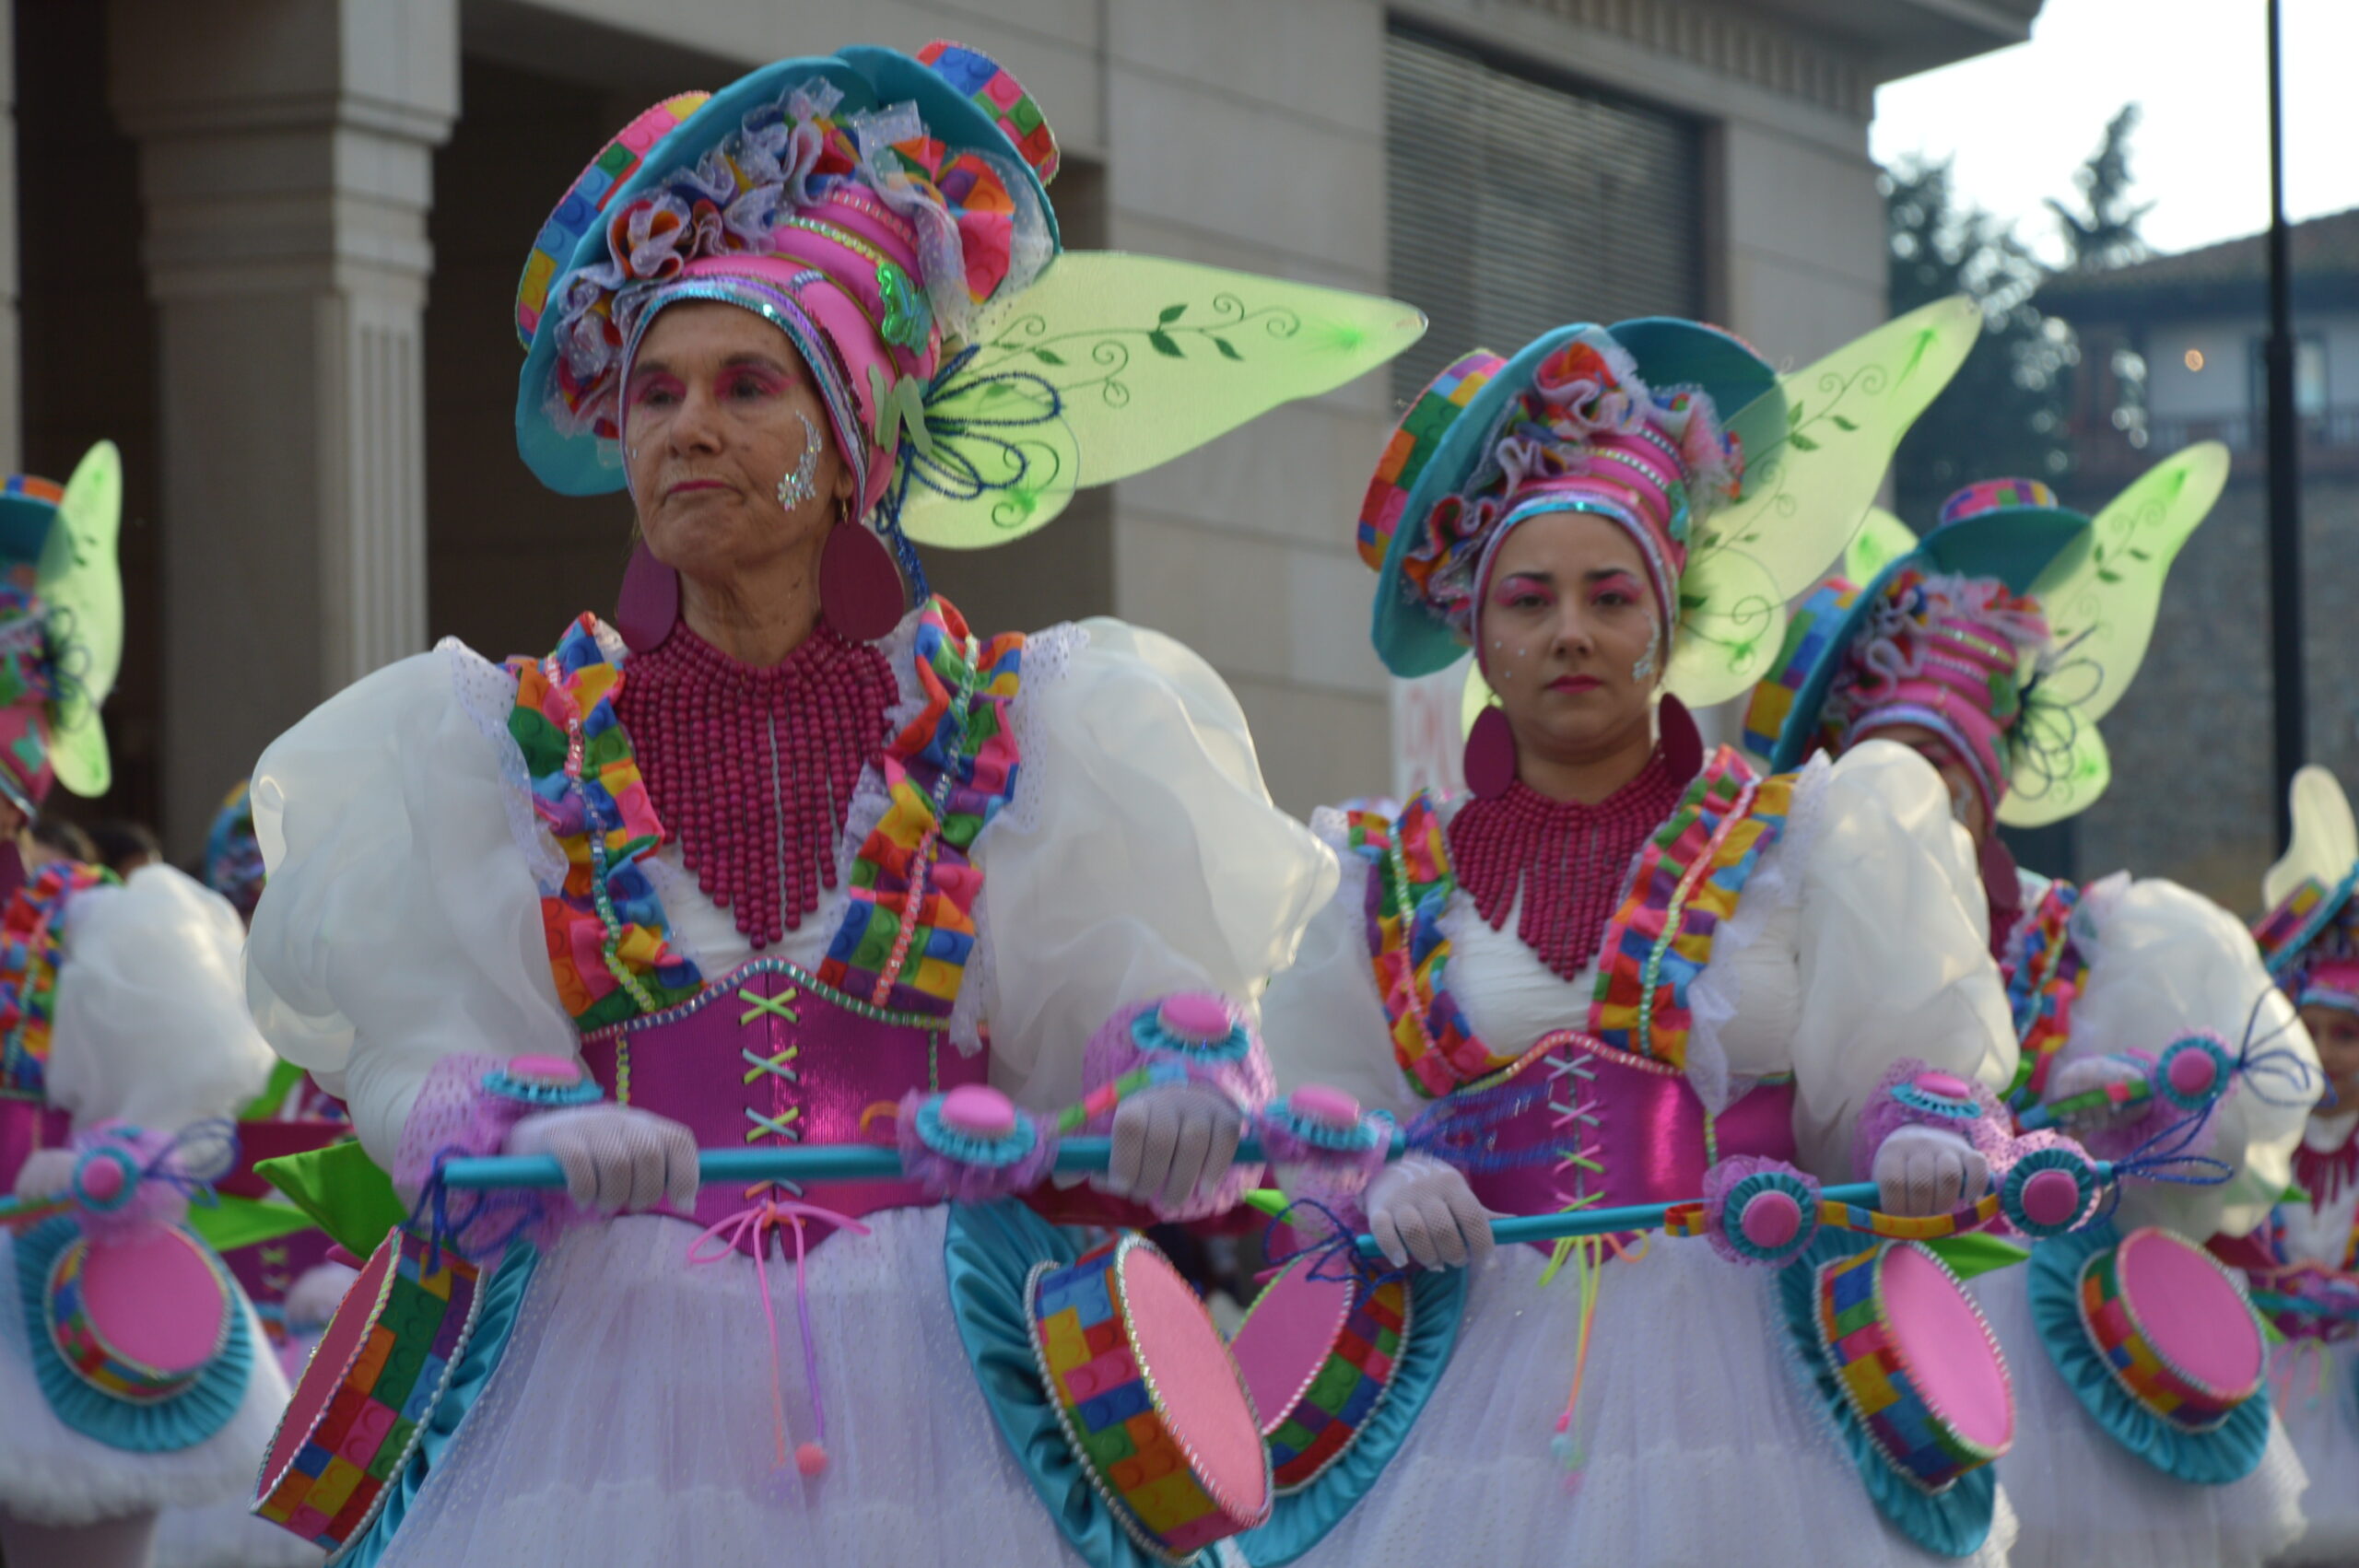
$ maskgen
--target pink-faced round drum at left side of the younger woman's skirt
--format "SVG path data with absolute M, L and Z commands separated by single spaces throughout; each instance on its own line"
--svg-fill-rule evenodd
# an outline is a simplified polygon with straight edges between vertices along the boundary
M 1316 1481 L 1359 1441 L 1408 1342 L 1408 1280 L 1321 1278 L 1314 1264 L 1286 1264 L 1229 1339 L 1279 1495 Z

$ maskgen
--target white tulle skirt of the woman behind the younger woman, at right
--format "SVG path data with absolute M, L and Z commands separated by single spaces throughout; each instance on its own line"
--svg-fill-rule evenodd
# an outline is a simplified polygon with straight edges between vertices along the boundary
M 2074 1398 L 2031 1323 L 2026 1283 L 2024 1269 L 1972 1283 L 2015 1375 L 2015 1448 L 1998 1462 L 2022 1526 L 2010 1568 L 2258 1568 L 2302 1533 L 2307 1476 L 2284 1424 L 2269 1424 L 2243 1481 L 2173 1481 Z

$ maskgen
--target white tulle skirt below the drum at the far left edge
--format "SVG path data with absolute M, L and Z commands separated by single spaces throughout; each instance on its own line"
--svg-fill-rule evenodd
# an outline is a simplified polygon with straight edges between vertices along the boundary
M 17 1304 L 14 1236 L 0 1231 L 0 1511 L 35 1526 L 87 1526 L 170 1507 L 238 1504 L 255 1490 L 262 1450 L 288 1403 L 288 1379 L 271 1358 L 252 1309 L 255 1344 L 245 1403 L 217 1434 L 175 1452 L 123 1452 L 64 1427 L 33 1379 L 24 1311 Z M 241 1299 L 243 1304 L 243 1299 Z

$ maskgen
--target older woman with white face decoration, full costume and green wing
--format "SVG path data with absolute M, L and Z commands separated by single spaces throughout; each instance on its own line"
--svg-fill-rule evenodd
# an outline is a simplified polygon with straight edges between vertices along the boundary
M 373 1391 L 366 1474 L 326 1429 L 274 1455 L 259 1511 L 344 1561 L 1123 1547 L 1052 1415 L 1003 1445 L 1031 1351 L 972 1351 L 1062 1233 L 918 1181 L 698 1191 L 696 1162 L 892 1141 L 896 1106 L 934 1137 L 934 1089 L 1066 1108 L 1158 1061 L 1184 1082 L 1095 1115 L 1109 1186 L 1201 1214 L 1246 1184 L 1255 997 L 1326 851 L 1194 653 L 1113 620 L 977 639 L 911 540 L 1019 538 L 1422 321 L 1059 255 L 1054 160 L 955 45 L 788 59 L 632 123 L 517 304 L 526 465 L 637 512 L 618 625 L 505 667 L 443 644 L 262 757 L 255 1016 L 432 1221 L 394 1283 L 469 1313 L 429 1396 Z M 554 1155 L 564 1200 L 436 1174 L 500 1151 Z

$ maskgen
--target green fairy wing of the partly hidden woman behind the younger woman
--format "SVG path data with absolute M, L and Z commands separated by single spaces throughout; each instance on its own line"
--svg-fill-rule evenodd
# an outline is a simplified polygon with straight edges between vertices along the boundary
M 2154 637 L 2163 578 L 2227 486 L 2227 448 L 2201 441 L 2137 476 L 2090 523 L 2031 597 L 2050 651 L 2024 689 L 2008 797 L 1998 821 L 2041 828 L 2085 811 L 2111 778 L 2097 719 L 2114 712 Z

